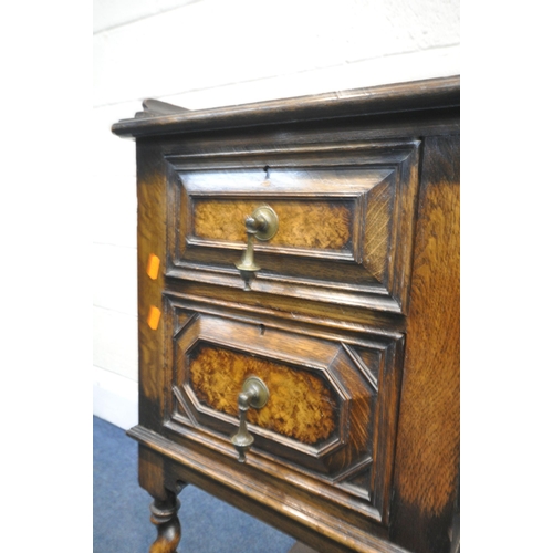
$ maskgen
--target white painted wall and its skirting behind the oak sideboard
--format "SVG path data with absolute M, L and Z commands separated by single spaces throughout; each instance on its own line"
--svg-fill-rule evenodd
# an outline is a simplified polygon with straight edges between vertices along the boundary
M 94 0 L 94 414 L 137 422 L 134 142 L 191 109 L 460 74 L 459 0 Z

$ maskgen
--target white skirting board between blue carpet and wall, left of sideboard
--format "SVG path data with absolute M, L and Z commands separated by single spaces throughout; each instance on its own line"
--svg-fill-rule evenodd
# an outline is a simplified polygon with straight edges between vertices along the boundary
M 127 430 L 138 424 L 138 383 L 93 366 L 93 413 Z

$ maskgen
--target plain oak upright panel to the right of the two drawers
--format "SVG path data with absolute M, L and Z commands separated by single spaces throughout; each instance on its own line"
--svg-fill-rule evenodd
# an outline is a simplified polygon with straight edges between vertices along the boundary
M 424 144 L 390 538 L 449 553 L 460 455 L 459 136 Z

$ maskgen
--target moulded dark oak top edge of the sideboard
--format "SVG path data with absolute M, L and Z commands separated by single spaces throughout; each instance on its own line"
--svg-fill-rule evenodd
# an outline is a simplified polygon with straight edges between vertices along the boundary
M 143 112 L 115 123 L 112 131 L 140 137 L 459 105 L 460 77 L 451 76 L 198 111 L 145 100 Z

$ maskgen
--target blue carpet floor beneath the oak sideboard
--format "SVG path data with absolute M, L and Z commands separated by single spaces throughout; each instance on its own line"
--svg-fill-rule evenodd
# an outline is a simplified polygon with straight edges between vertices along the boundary
M 156 536 L 137 450 L 124 430 L 94 417 L 94 553 L 147 553 Z M 179 552 L 288 553 L 295 542 L 192 486 L 179 499 Z

